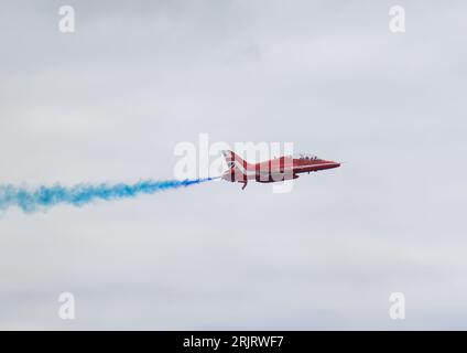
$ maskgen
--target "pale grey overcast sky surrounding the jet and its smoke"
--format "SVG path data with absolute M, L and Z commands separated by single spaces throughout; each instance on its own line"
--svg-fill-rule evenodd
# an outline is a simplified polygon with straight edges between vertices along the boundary
M 0 4 L 0 184 L 172 179 L 203 132 L 346 163 L 3 212 L 1 329 L 467 329 L 464 1 L 66 3 Z

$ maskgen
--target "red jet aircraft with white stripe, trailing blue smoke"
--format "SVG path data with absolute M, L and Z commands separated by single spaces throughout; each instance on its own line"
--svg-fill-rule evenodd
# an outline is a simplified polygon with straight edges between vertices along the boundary
M 222 179 L 231 182 L 243 183 L 243 190 L 249 180 L 259 183 L 273 183 L 284 180 L 297 179 L 298 173 L 317 172 L 318 170 L 340 167 L 340 163 L 326 161 L 313 154 L 298 153 L 285 156 L 269 161 L 251 164 L 232 151 L 222 151 L 229 168 Z

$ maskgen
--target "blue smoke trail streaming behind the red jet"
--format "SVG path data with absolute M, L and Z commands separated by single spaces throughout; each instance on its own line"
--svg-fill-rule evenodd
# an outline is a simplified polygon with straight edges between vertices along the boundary
M 48 208 L 57 204 L 83 206 L 95 200 L 132 199 L 140 194 L 153 194 L 158 191 L 178 189 L 199 184 L 216 178 L 195 180 L 140 181 L 134 184 L 79 184 L 65 188 L 59 184 L 37 189 L 0 185 L 0 211 L 18 206 L 24 212 Z

